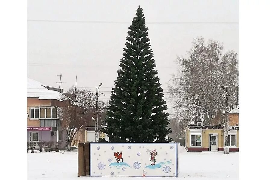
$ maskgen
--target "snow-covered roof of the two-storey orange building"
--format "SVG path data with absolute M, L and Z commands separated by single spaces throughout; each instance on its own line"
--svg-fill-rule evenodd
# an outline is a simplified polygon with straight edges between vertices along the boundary
M 63 96 L 58 91 L 48 90 L 41 82 L 34 79 L 27 78 L 27 98 L 39 98 L 39 99 L 57 99 L 61 100 Z

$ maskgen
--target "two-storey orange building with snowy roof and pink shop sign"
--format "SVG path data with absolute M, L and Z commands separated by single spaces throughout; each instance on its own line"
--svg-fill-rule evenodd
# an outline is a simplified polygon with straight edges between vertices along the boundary
M 60 142 L 64 149 L 67 122 L 62 93 L 63 89 L 27 79 L 27 141 Z

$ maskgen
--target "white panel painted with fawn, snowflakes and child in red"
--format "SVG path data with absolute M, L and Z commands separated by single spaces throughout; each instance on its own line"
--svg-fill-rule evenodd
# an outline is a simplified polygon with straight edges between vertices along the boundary
M 177 177 L 178 143 L 90 143 L 90 176 Z

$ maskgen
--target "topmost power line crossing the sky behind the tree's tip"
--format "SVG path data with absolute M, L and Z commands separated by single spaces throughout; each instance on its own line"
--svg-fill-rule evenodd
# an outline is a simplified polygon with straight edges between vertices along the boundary
M 79 20 L 42 20 L 42 19 L 28 19 L 29 22 L 72 22 L 72 23 L 96 23 L 96 24 L 131 24 L 131 22 L 118 22 L 118 21 L 79 21 Z M 178 24 L 178 25 L 229 25 L 239 22 L 146 22 L 146 24 Z

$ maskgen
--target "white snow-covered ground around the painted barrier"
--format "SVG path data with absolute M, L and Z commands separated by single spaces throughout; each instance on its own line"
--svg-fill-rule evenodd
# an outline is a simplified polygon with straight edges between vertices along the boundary
M 216 152 L 186 152 L 180 151 L 180 174 L 178 178 L 155 178 L 161 180 L 236 180 L 238 179 L 238 152 L 224 155 Z M 42 152 L 27 154 L 27 173 L 29 180 L 112 180 L 127 179 L 127 177 L 77 177 L 77 152 Z M 130 180 L 139 178 L 129 177 Z M 146 178 L 148 179 L 148 178 Z M 154 179 L 154 178 L 151 178 Z

